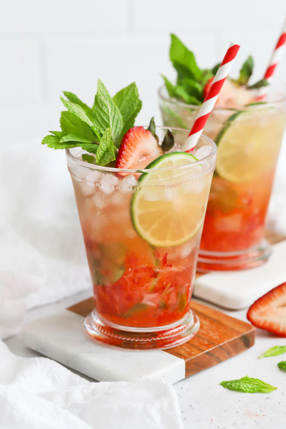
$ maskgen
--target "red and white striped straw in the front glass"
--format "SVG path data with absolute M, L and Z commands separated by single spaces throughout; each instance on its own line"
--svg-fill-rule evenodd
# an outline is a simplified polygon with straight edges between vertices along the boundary
M 235 60 L 239 48 L 240 45 L 231 43 L 228 50 L 226 51 L 217 73 L 214 76 L 214 80 L 211 84 L 208 94 L 206 94 L 205 100 L 199 109 L 196 120 L 192 129 L 190 130 L 189 137 L 187 137 L 187 140 L 184 143 L 183 150 L 185 152 L 190 152 L 196 146 L 202 134 L 202 130 L 205 127 L 205 123 L 207 122 L 211 111 L 214 109 L 214 105 L 217 101 L 217 97 L 219 96 L 221 87 L 223 86 L 223 82 L 229 75 L 230 69 L 232 68 L 232 63 Z

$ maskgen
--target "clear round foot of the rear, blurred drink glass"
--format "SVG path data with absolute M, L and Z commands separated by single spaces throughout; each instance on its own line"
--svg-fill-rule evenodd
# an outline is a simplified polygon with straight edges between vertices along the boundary
M 198 272 L 229 271 L 255 268 L 265 263 L 271 254 L 266 239 L 255 248 L 240 252 L 209 252 L 199 250 Z

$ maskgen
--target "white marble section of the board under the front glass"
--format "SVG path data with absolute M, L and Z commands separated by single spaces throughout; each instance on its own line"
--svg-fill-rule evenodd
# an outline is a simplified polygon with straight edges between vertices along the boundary
M 120 350 L 93 341 L 84 317 L 64 310 L 33 320 L 23 328 L 27 347 L 98 381 L 185 378 L 185 361 L 163 350 Z

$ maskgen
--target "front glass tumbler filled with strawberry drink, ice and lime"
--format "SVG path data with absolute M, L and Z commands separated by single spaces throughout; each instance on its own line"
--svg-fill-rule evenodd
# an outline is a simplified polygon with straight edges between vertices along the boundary
M 161 141 L 167 129 L 157 127 Z M 171 130 L 180 151 L 188 133 Z M 93 282 L 85 327 L 97 341 L 167 348 L 199 329 L 190 301 L 217 153 L 202 136 L 198 147 L 205 145 L 210 154 L 200 161 L 141 170 L 96 166 L 81 160 L 81 148 L 66 151 Z

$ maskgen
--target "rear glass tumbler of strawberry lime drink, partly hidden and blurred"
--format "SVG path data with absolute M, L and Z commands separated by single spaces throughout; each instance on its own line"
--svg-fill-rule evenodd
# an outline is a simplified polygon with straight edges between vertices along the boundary
M 198 106 L 170 99 L 159 90 L 164 124 L 190 129 Z M 265 222 L 286 122 L 285 88 L 267 103 L 245 109 L 215 107 L 204 133 L 217 144 L 198 270 L 247 269 L 264 263 L 271 248 Z

